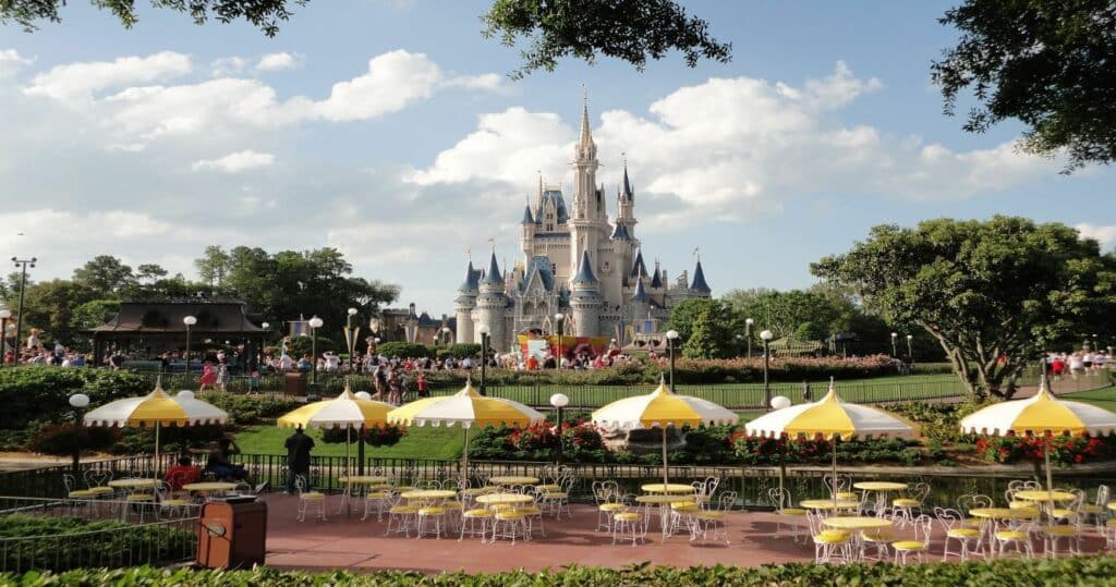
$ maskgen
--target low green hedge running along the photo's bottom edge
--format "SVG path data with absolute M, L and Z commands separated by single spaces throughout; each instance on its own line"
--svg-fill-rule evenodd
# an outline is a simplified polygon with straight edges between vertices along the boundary
M 624 569 L 570 566 L 539 572 L 506 571 L 489 575 L 443 572 L 422 575 L 415 571 L 354 574 L 338 570 L 309 574 L 270 568 L 251 570 L 193 570 L 135 567 L 115 570 L 74 570 L 60 574 L 26 572 L 0 575 L 0 584 L 22 587 L 88 585 L 176 585 L 183 587 L 221 586 L 338 586 L 394 587 L 410 585 L 490 587 L 516 586 L 608 586 L 674 587 L 722 585 L 818 587 L 820 585 L 918 585 L 943 587 L 1016 587 L 1019 585 L 1116 586 L 1116 557 L 1074 557 L 1056 560 L 981 560 L 972 562 L 930 562 L 898 567 L 888 562 L 856 565 L 812 565 L 795 562 L 743 567 L 651 567 L 646 564 Z

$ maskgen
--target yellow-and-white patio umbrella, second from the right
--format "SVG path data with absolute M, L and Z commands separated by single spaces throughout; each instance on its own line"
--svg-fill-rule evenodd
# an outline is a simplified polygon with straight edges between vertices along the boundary
M 902 420 L 875 407 L 849 404 L 837 396 L 833 377 L 829 392 L 821 400 L 785 407 L 760 416 L 747 424 L 744 431 L 753 436 L 789 437 L 817 435 L 833 439 L 833 498 L 837 507 L 837 443 L 853 436 L 910 437 L 914 430 Z

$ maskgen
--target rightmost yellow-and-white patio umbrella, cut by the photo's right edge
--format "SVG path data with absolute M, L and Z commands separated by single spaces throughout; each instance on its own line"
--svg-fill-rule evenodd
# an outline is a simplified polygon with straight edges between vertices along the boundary
M 1112 434 L 1116 432 L 1116 414 L 1090 404 L 1058 400 L 1046 386 L 1046 374 L 1033 397 L 1002 402 L 969 414 L 961 420 L 961 432 L 1006 436 L 1008 433 L 1035 435 Z M 1042 443 L 1047 491 L 1054 491 L 1050 471 L 1050 445 Z M 1054 495 L 1051 494 L 1051 498 Z M 1052 499 L 1050 503 L 1054 508 Z

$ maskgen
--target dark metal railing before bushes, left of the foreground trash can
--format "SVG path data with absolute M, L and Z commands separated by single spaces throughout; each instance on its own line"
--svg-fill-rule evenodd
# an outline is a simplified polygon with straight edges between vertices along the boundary
M 114 507 L 129 506 L 135 504 L 0 497 L 0 520 L 16 525 L 30 517 L 90 519 L 96 514 L 105 519 L 107 512 L 115 511 Z M 59 526 L 64 525 L 59 520 Z M 61 530 L 61 533 L 0 538 L 0 572 L 165 565 L 191 560 L 198 552 L 198 508 L 173 520 L 138 525 L 92 522 L 88 530 L 81 530 L 83 526 L 86 525 L 71 525 L 69 529 L 76 531 Z

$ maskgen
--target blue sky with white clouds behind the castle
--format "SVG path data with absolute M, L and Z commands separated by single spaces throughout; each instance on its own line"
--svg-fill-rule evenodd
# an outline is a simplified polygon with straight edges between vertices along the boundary
M 1018 214 L 1116 244 L 1112 169 L 1059 174 L 1014 148 L 1018 124 L 943 115 L 949 3 L 683 3 L 731 62 L 513 80 L 473 0 L 312 0 L 276 38 L 145 2 L 131 30 L 80 0 L 60 25 L 0 26 L 0 258 L 37 257 L 35 280 L 97 254 L 193 278 L 209 244 L 336 247 L 397 283 L 395 306 L 450 314 L 469 252 L 521 257 L 540 174 L 571 196 L 583 88 L 608 194 L 627 160 L 644 256 L 673 279 L 699 249 L 718 296 L 809 287 L 810 262 L 883 223 Z

